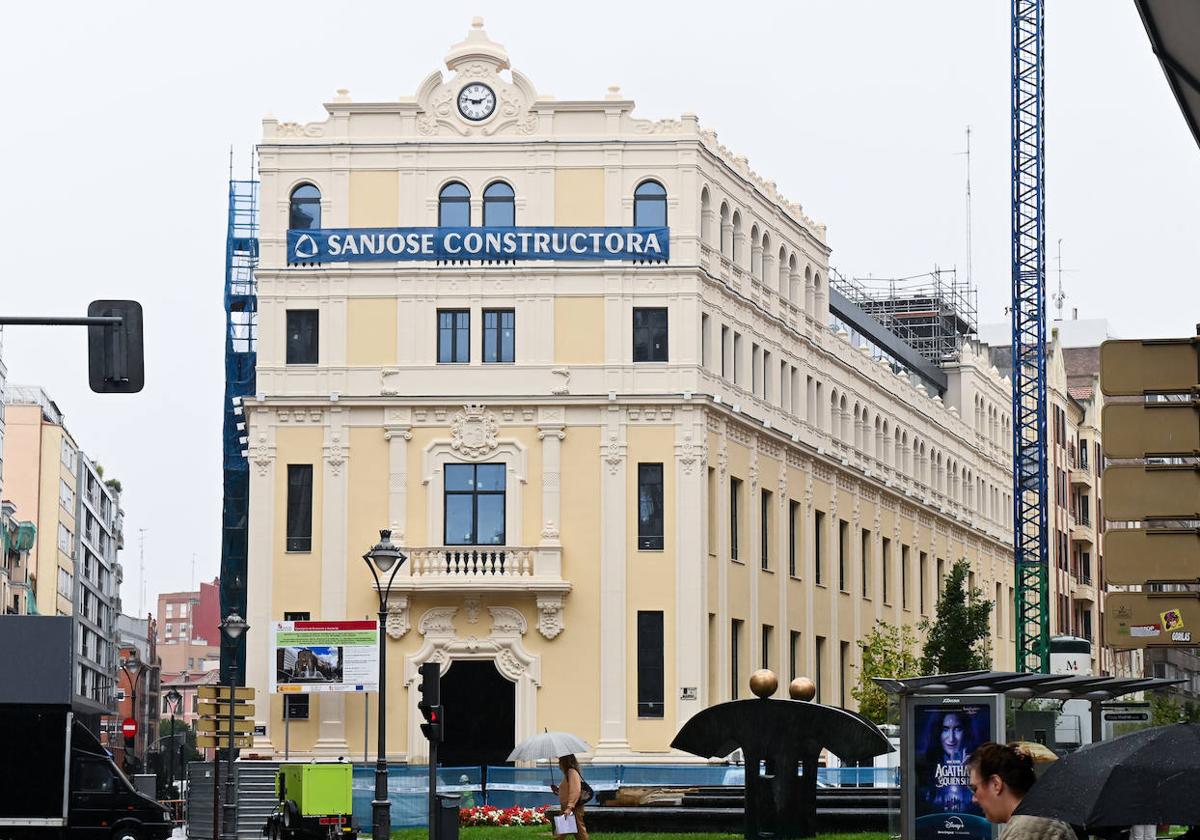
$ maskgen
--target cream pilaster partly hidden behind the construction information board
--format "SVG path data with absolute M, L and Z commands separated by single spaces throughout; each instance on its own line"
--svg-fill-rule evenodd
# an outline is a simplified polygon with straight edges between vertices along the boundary
M 328 409 L 325 443 L 322 446 L 324 475 L 320 518 L 320 616 L 325 620 L 346 618 L 346 521 L 349 515 L 348 415 L 348 410 L 338 407 Z M 347 755 L 350 748 L 346 740 L 346 698 L 332 692 L 320 695 L 317 700 L 317 714 L 319 722 L 313 754 Z

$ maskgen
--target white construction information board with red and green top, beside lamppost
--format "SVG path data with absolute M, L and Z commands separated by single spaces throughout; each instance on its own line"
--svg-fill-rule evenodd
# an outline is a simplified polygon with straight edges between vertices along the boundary
M 379 622 L 272 622 L 271 694 L 379 690 Z

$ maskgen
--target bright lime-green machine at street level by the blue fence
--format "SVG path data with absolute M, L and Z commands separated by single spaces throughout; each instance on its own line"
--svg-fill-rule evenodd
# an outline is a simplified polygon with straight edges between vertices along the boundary
M 278 803 L 263 834 L 270 840 L 355 840 L 350 764 L 281 764 Z

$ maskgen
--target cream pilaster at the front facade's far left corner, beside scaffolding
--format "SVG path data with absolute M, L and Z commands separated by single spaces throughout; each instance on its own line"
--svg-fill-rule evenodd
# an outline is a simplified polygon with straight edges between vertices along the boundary
M 247 409 L 246 427 L 250 436 L 250 514 L 246 556 L 246 620 L 252 628 L 246 635 L 246 685 L 258 691 L 254 724 L 265 726 L 266 734 L 254 736 L 254 750 L 274 752 L 271 744 L 271 696 L 268 694 L 270 674 L 270 626 L 272 581 L 275 568 L 275 413 L 265 408 Z M 281 535 L 282 536 L 282 535 Z M 278 618 L 282 618 L 280 616 Z M 282 746 L 283 732 L 280 732 Z

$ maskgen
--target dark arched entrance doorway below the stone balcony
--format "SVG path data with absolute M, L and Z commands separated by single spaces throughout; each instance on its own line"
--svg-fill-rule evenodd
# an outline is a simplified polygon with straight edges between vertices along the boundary
M 516 684 L 490 659 L 456 659 L 442 674 L 445 740 L 438 763 L 446 767 L 503 764 L 515 745 Z

